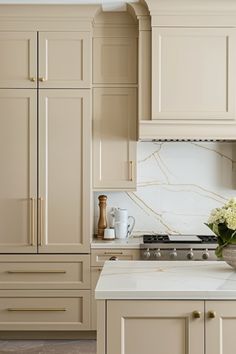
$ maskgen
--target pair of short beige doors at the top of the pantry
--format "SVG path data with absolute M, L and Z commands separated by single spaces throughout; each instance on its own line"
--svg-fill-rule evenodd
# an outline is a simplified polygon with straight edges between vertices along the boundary
M 0 32 L 0 88 L 91 88 L 91 48 L 84 31 Z

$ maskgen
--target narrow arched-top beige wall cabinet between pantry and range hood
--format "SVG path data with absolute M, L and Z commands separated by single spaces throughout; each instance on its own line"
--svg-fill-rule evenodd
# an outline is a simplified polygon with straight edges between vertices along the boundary
M 138 30 L 128 12 L 101 13 L 93 36 L 93 187 L 136 189 Z

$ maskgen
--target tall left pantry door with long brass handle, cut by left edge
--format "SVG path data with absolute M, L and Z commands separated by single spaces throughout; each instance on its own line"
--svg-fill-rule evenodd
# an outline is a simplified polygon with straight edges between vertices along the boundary
M 36 90 L 0 89 L 0 253 L 36 252 Z

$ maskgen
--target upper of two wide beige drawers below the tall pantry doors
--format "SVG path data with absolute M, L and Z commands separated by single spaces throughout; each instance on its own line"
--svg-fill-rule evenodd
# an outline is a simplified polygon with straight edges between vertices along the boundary
M 90 256 L 2 256 L 0 289 L 89 289 Z

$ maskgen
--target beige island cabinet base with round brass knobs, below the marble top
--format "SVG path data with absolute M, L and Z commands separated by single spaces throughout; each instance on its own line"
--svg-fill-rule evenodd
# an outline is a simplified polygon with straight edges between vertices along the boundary
M 235 352 L 236 301 L 99 303 L 98 354 Z

